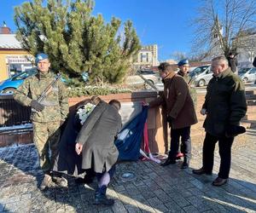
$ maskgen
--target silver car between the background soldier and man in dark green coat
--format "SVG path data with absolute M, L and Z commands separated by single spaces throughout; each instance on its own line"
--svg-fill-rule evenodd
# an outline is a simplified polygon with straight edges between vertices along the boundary
M 193 82 L 196 87 L 207 86 L 212 78 L 211 66 L 198 66 L 192 72 L 189 72 L 189 76 L 193 78 Z

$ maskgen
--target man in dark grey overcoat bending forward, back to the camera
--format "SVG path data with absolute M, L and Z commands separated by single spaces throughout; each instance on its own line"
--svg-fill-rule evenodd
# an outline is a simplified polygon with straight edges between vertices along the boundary
M 96 172 L 98 187 L 94 204 L 114 204 L 106 192 L 119 156 L 114 139 L 122 127 L 120 106 L 116 100 L 100 101 L 85 120 L 76 140 L 76 152 L 82 153 L 82 169 Z

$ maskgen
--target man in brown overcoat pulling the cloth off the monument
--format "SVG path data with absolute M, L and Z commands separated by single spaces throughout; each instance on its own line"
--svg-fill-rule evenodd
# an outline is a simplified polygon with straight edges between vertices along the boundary
M 171 126 L 171 150 L 166 162 L 161 165 L 176 163 L 181 138 L 183 147 L 181 151 L 184 155 L 182 169 L 186 169 L 191 158 L 190 127 L 197 123 L 195 107 L 189 95 L 188 84 L 183 77 L 177 75 L 166 62 L 160 64 L 159 70 L 164 83 L 164 92 L 156 100 L 151 101 L 149 107 L 164 106 L 167 122 Z

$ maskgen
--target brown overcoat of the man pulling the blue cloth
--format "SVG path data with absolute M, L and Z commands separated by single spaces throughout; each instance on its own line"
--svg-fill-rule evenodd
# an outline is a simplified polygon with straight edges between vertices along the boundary
M 164 92 L 149 107 L 164 106 L 167 116 L 171 116 L 172 129 L 181 129 L 197 123 L 195 107 L 189 95 L 188 84 L 183 77 L 170 72 L 164 79 Z

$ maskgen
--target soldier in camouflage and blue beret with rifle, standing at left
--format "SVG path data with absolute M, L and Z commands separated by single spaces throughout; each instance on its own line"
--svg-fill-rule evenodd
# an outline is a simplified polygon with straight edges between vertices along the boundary
M 38 54 L 35 63 L 38 66 L 38 73 L 26 78 L 15 91 L 14 98 L 20 104 L 32 107 L 33 140 L 38 149 L 40 166 L 44 171 L 44 180 L 40 186 L 44 190 L 52 183 L 50 172 L 61 136 L 60 126 L 67 117 L 68 101 L 67 90 L 60 80 L 53 84 L 44 101 L 37 101 L 49 84 L 55 80 L 55 75 L 49 72 L 48 55 Z M 51 158 L 49 158 L 49 148 Z M 53 180 L 63 181 L 58 177 Z

